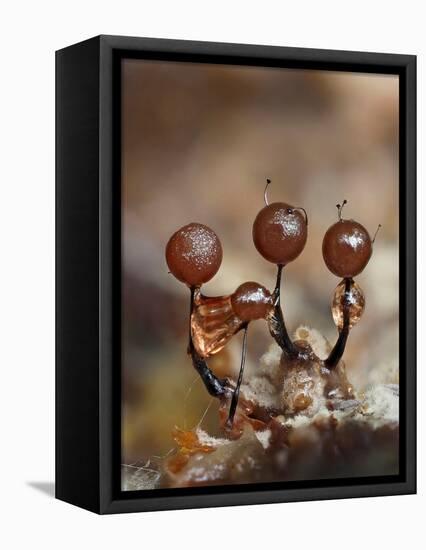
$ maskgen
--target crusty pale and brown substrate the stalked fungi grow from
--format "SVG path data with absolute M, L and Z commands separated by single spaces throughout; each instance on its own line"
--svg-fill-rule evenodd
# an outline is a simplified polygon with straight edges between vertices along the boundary
M 394 376 L 356 391 L 348 385 L 341 362 L 330 385 L 318 361 L 328 355 L 329 343 L 305 326 L 297 329 L 295 340 L 309 344 L 317 360 L 289 365 L 273 344 L 261 358 L 259 370 L 241 387 L 242 398 L 256 403 L 258 411 L 276 411 L 263 426 L 243 423 L 236 439 L 216 438 L 198 428 L 192 434 L 194 447 L 178 445 L 176 454 L 158 463 L 157 473 L 147 468 L 129 470 L 126 486 L 147 489 L 397 473 L 399 386 Z M 306 400 L 301 400 L 303 408 L 298 410 L 295 398 L 301 391 Z

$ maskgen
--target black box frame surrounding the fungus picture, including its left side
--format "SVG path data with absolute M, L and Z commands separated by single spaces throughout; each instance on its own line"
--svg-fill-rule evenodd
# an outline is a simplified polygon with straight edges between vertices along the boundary
M 120 491 L 120 60 L 397 74 L 398 476 Z M 416 57 L 98 36 L 56 52 L 56 498 L 97 513 L 416 492 Z

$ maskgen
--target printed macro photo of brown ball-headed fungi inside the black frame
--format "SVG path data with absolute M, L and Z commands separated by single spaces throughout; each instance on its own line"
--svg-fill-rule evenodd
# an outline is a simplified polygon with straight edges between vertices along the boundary
M 122 60 L 123 491 L 399 473 L 398 105 Z

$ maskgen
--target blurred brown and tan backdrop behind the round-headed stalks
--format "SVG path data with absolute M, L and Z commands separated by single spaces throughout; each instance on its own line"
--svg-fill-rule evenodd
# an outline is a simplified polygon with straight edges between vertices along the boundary
M 123 463 L 167 453 L 175 425 L 202 420 L 215 432 L 216 403 L 186 355 L 189 292 L 168 274 L 164 249 L 180 226 L 204 223 L 224 251 L 205 294 L 247 280 L 272 289 L 275 266 L 251 238 L 266 177 L 270 202 L 309 215 L 306 248 L 284 274 L 291 332 L 303 323 L 336 338 L 330 302 L 339 280 L 321 254 L 336 203 L 347 199 L 343 216 L 371 234 L 382 224 L 356 279 L 367 306 L 345 362 L 359 389 L 397 382 L 398 78 L 126 60 L 122 90 Z M 253 323 L 246 376 L 270 343 L 265 324 Z M 212 368 L 236 373 L 240 347 L 237 335 Z

